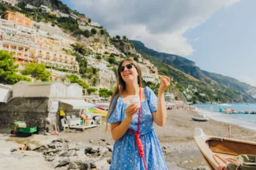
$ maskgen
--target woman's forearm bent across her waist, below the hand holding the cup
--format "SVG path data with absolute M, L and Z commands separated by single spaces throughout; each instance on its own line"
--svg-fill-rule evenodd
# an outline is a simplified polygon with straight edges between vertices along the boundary
M 125 118 L 125 120 L 123 120 L 123 122 L 121 122 L 121 124 L 119 124 L 117 127 L 113 128 L 113 130 L 111 130 L 113 140 L 117 141 L 121 137 L 123 137 L 123 135 L 129 128 L 131 121 L 132 120 Z

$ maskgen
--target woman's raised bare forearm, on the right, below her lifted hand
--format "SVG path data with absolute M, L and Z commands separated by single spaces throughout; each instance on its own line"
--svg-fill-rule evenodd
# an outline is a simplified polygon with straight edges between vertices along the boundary
M 164 93 L 158 93 L 158 109 L 156 110 L 155 118 L 156 120 L 154 122 L 156 122 L 158 126 L 164 126 L 166 120 Z

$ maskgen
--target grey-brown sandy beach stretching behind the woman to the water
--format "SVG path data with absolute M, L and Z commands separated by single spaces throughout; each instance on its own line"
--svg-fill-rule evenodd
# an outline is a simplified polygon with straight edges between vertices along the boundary
M 228 137 L 228 124 L 217 122 L 215 120 L 194 122 L 191 120 L 191 116 L 201 117 L 193 111 L 171 110 L 168 111 L 166 124 L 163 127 L 155 126 L 156 134 L 158 135 L 158 139 L 162 146 L 168 169 L 193 169 L 194 167 L 207 166 L 193 139 L 195 128 L 202 128 L 207 135 Z M 47 138 L 44 136 L 39 138 L 38 135 L 29 138 L 9 137 L 9 134 L 7 135 L 2 132 L 1 135 L 5 135 L 5 137 L 2 137 L 2 140 L 0 140 L 0 151 L 5 151 L 6 154 L 1 154 L 0 160 L 3 160 L 3 158 L 6 157 L 8 154 L 7 151 L 14 145 L 18 146 L 20 143 L 24 142 L 46 142 L 56 137 L 65 138 L 70 142 L 80 144 L 93 144 L 97 146 L 113 145 L 114 140 L 112 140 L 110 136 L 110 131 L 108 130 L 108 132 L 105 133 L 104 130 L 105 126 L 102 125 L 97 128 L 86 129 L 84 132 L 74 132 L 71 130 L 71 132 L 62 132 L 59 136 L 51 135 L 47 136 Z M 256 134 L 256 130 L 249 130 L 241 126 L 231 125 L 232 138 L 256 142 L 256 136 L 253 136 L 253 134 Z M 8 155 L 8 157 L 11 156 Z M 1 165 L 11 163 L 11 159 L 8 159 L 10 161 L 6 160 L 0 161 Z M 23 165 L 26 163 L 26 161 L 21 161 L 21 159 L 18 159 L 17 157 L 13 157 L 12 161 L 13 160 L 18 161 L 17 164 L 21 163 Z M 36 160 L 39 162 L 41 161 L 42 165 L 46 165 L 44 159 L 40 159 L 39 157 Z M 17 168 L 14 165 L 6 165 L 6 167 L 9 169 Z M 26 169 L 26 164 L 23 167 L 23 169 Z M 51 168 L 53 167 L 49 167 L 49 169 Z

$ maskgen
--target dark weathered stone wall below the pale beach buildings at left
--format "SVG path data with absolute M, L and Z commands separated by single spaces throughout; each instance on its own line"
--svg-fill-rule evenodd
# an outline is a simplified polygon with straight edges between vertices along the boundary
M 72 105 L 59 102 L 57 113 L 49 112 L 51 99 L 47 97 L 15 97 L 8 103 L 0 103 L 0 128 L 11 129 L 12 120 L 24 121 L 28 127 L 37 126 L 38 132 L 53 133 L 54 123 L 61 130 L 59 110 L 64 110 L 65 116 L 79 117 L 79 110 L 73 110 Z

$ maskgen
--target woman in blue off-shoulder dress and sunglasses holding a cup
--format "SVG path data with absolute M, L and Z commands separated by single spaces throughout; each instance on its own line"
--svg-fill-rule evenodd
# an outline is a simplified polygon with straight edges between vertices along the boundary
M 155 122 L 158 126 L 164 126 L 164 91 L 169 87 L 170 79 L 160 77 L 158 97 L 149 87 L 142 88 L 141 81 L 141 70 L 137 62 L 131 59 L 121 61 L 117 88 L 110 100 L 106 119 L 115 140 L 110 170 L 167 169 L 153 124 Z M 141 96 L 139 107 L 130 103 L 134 95 Z M 108 124 L 106 130 L 107 128 Z

